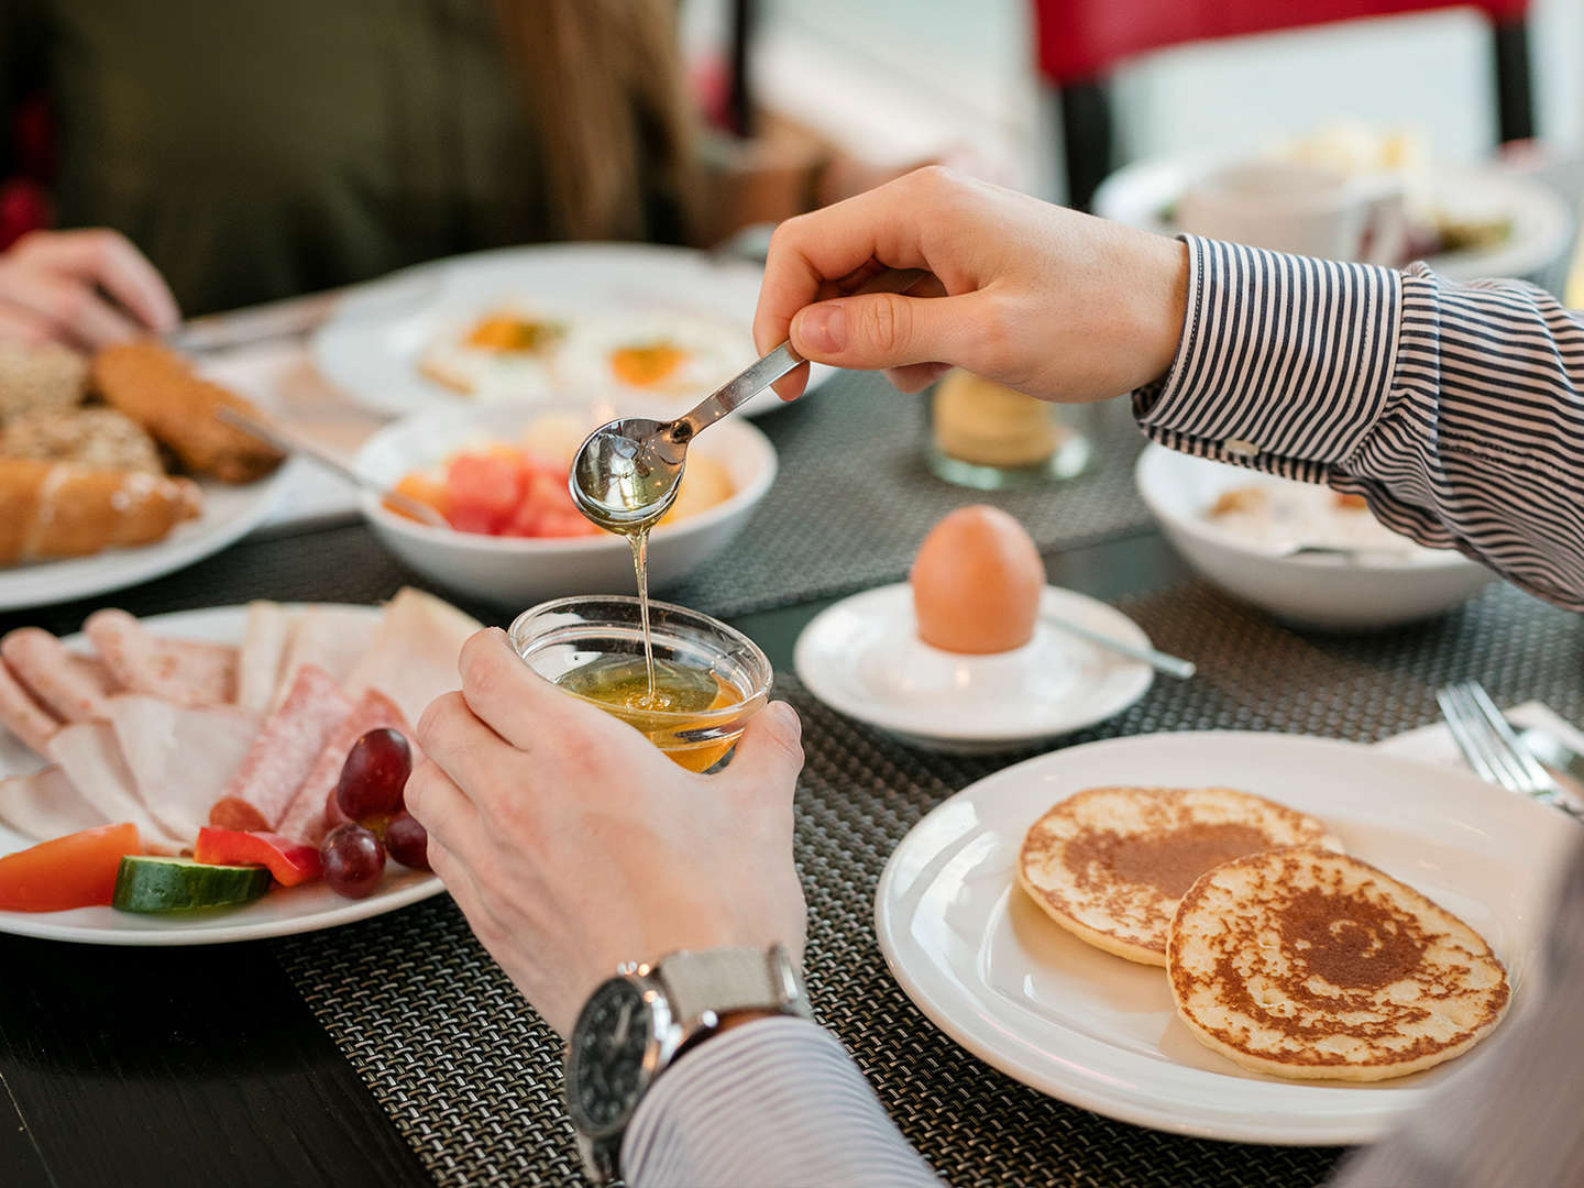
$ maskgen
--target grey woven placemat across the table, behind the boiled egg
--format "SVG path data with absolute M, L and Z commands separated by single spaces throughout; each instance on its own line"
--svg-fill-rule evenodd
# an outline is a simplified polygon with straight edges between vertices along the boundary
M 879 375 L 841 372 L 760 418 L 778 451 L 775 486 L 732 548 L 664 596 L 730 616 L 897 581 L 935 523 L 971 502 L 1015 515 L 1041 551 L 1150 523 L 1133 489 L 1144 436 L 1121 401 L 1064 410 L 1090 436 L 1090 469 L 1025 491 L 969 491 L 936 478 L 925 464 L 925 406 Z

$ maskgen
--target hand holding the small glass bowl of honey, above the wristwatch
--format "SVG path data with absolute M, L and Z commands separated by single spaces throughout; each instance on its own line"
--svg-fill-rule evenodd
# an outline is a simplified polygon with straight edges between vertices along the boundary
M 407 809 L 485 949 L 561 1034 L 621 961 L 765 947 L 802 960 L 797 713 L 759 713 L 725 771 L 686 771 L 535 675 L 491 629 L 418 722 Z

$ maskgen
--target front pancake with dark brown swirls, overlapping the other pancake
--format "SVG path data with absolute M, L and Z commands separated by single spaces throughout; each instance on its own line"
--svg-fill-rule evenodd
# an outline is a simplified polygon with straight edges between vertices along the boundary
M 1365 862 L 1318 847 L 1204 874 L 1172 922 L 1177 1014 L 1255 1072 L 1383 1080 L 1467 1052 L 1511 990 L 1467 923 Z

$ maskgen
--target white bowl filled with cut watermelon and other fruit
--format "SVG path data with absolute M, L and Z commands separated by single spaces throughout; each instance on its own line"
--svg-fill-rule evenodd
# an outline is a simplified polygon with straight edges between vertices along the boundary
M 567 466 L 583 437 L 630 415 L 645 412 L 621 399 L 562 398 L 404 417 L 364 442 L 356 469 L 386 488 L 402 485 L 453 526 L 420 523 L 371 493 L 363 496 L 363 515 L 398 558 L 461 594 L 518 608 L 569 594 L 630 594 L 627 539 L 583 521 L 565 491 Z M 507 496 L 496 499 L 488 489 L 482 501 L 474 496 L 489 486 L 493 469 L 510 485 L 505 467 L 491 467 L 489 458 L 510 461 L 513 451 L 529 456 L 531 474 L 520 507 L 502 513 Z M 459 467 L 458 458 L 483 461 Z M 725 548 L 775 477 L 775 447 L 748 421 L 729 418 L 702 434 L 687 451 L 676 507 L 649 537 L 649 589 L 676 584 Z

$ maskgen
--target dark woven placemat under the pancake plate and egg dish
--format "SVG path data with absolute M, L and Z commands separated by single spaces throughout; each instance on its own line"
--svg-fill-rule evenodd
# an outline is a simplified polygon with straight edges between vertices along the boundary
M 1204 586 L 1120 604 L 1193 681 L 1158 681 L 1074 743 L 1156 730 L 1251 729 L 1376 741 L 1437 716 L 1434 689 L 1479 676 L 1500 703 L 1584 714 L 1584 624 L 1506 586 L 1375 637 L 1299 635 Z M 947 1041 L 903 995 L 873 933 L 881 866 L 944 797 L 1025 757 L 933 756 L 813 702 L 797 857 L 811 912 L 808 977 L 904 1134 L 954 1185 L 1196 1188 L 1312 1185 L 1338 1153 L 1182 1139 L 1034 1093 Z M 277 942 L 309 1006 L 436 1178 L 577 1178 L 559 1106 L 559 1042 L 467 933 L 450 900 Z

